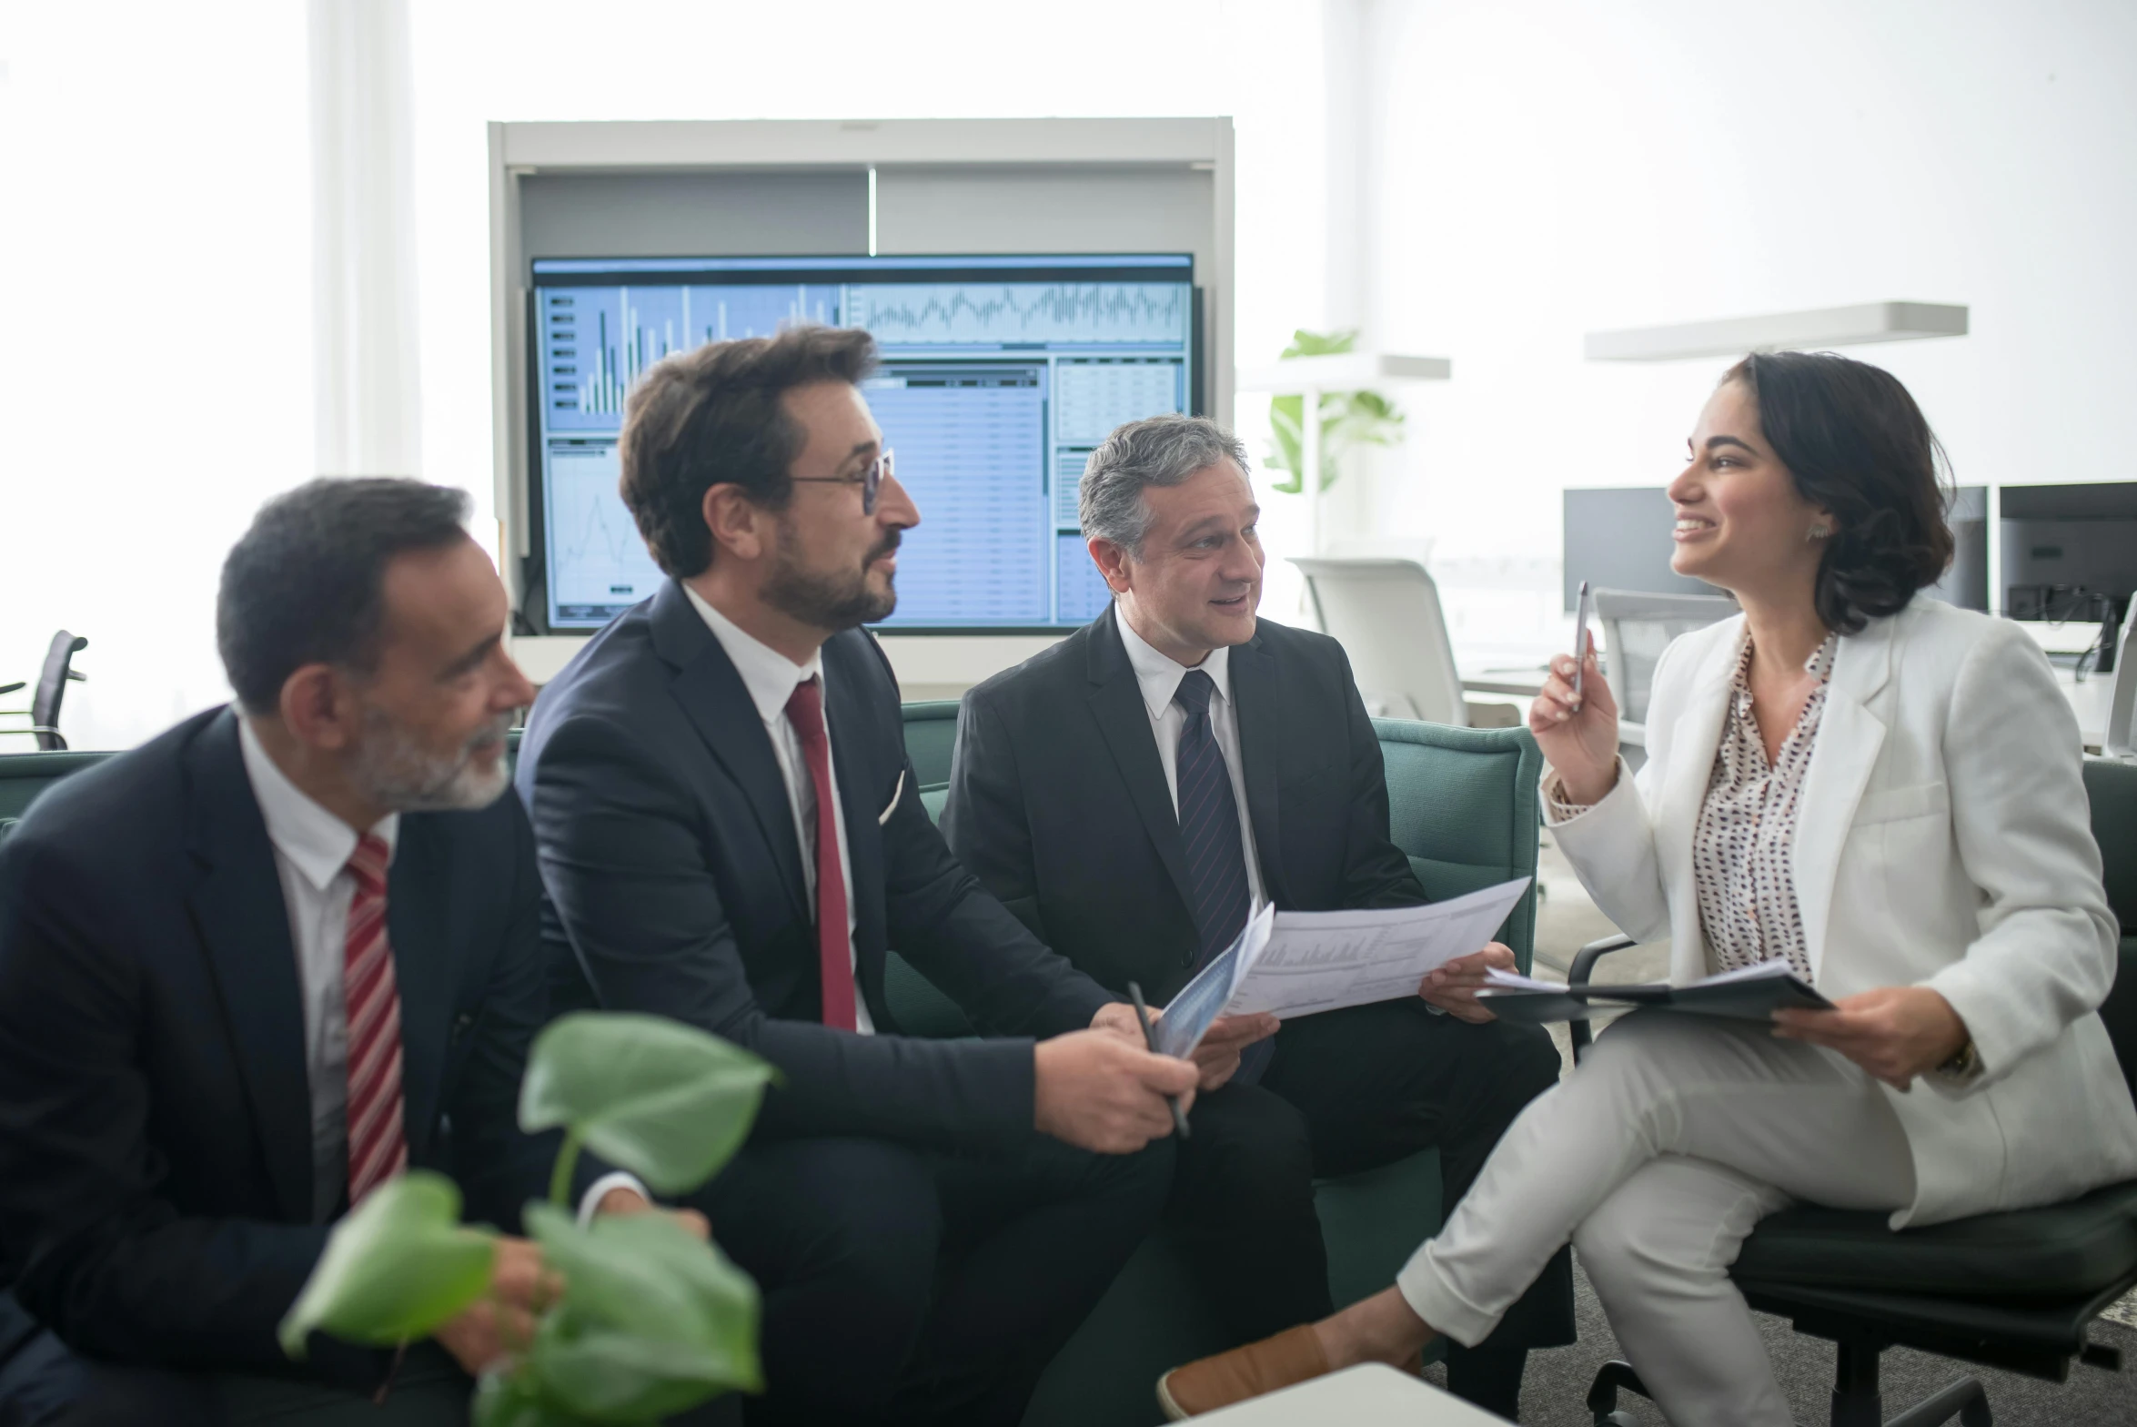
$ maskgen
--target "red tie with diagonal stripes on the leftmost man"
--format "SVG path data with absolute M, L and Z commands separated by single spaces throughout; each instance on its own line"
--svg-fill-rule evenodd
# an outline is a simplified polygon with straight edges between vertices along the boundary
M 408 1169 L 400 1100 L 400 991 L 387 944 L 387 840 L 363 833 L 348 859 L 342 993 L 348 1013 L 348 1207 Z

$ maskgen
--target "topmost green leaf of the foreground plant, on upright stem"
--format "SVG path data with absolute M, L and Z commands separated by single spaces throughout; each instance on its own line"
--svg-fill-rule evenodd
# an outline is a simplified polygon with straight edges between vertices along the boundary
M 662 1194 L 705 1183 L 750 1132 L 774 1068 L 667 1017 L 581 1010 L 534 1038 L 519 1124 L 573 1139 Z

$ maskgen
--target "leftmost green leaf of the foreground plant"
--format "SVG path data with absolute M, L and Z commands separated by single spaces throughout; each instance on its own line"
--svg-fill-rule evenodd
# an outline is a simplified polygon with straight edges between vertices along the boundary
M 314 1329 L 376 1346 L 423 1337 L 483 1297 L 496 1252 L 496 1235 L 459 1224 L 451 1179 L 410 1171 L 336 1224 L 282 1318 L 282 1352 L 301 1359 Z

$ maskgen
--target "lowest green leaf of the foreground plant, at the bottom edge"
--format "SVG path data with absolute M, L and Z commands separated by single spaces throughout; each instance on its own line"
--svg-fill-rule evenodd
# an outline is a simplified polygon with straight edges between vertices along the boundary
M 581 1228 L 562 1209 L 528 1205 L 528 1233 L 545 1263 L 564 1275 L 564 1301 L 577 1322 L 573 1342 L 618 1331 L 688 1348 L 680 1359 L 688 1380 L 709 1374 L 718 1386 L 761 1391 L 756 1284 L 718 1248 L 665 1213 L 603 1216 Z

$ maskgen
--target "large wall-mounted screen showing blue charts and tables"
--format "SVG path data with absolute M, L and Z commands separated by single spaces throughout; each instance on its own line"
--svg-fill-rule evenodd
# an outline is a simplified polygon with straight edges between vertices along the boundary
M 1105 607 L 1075 487 L 1116 425 L 1197 404 L 1188 254 L 536 258 L 549 628 L 598 628 L 662 579 L 615 491 L 630 385 L 791 323 L 865 327 L 883 352 L 865 395 L 921 511 L 883 628 L 1073 628 Z

